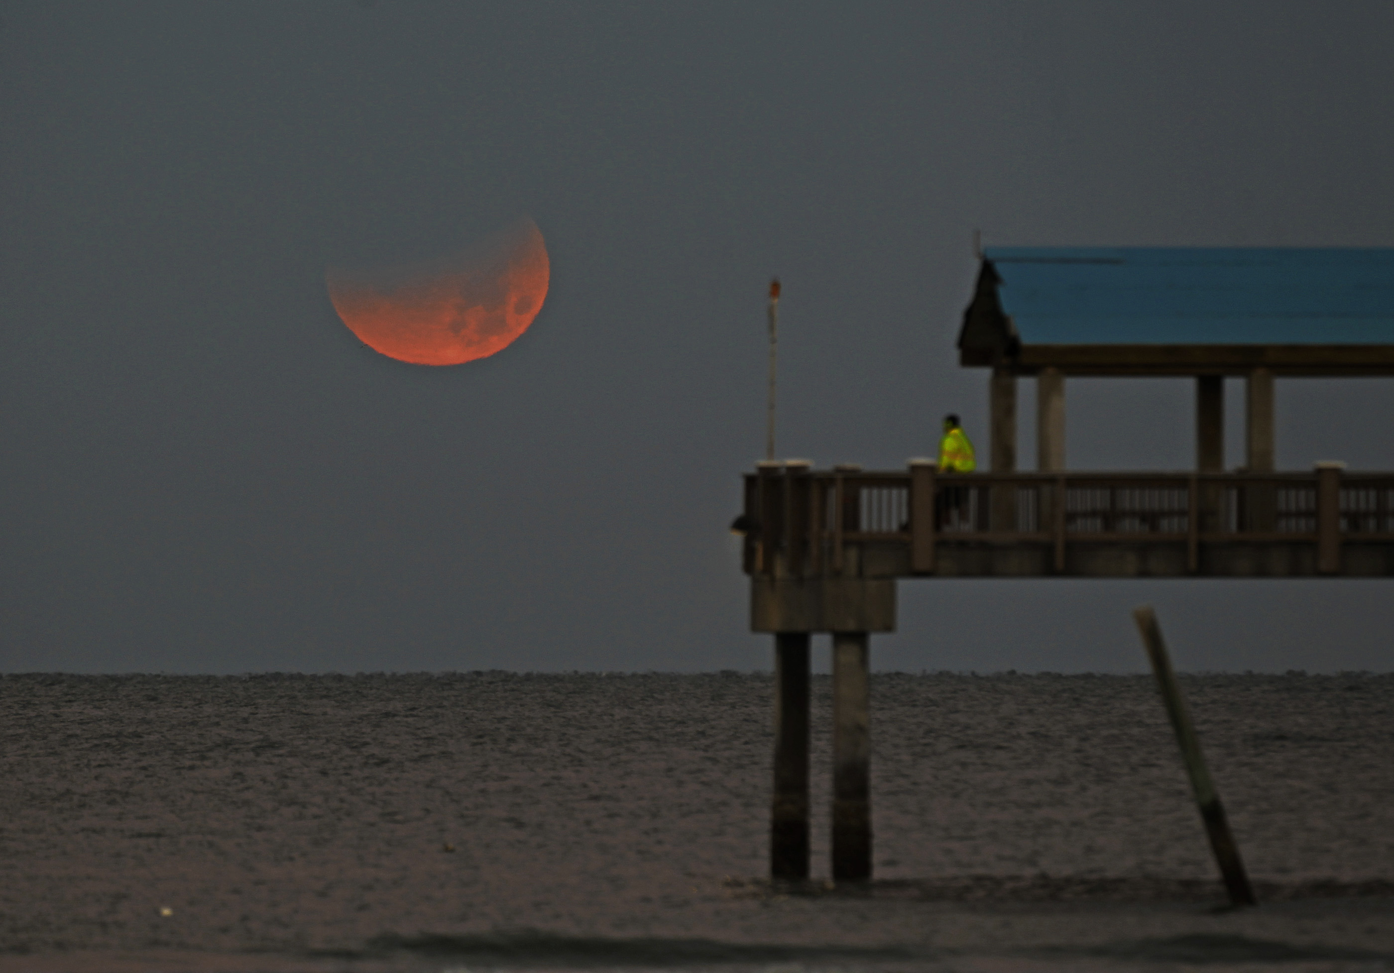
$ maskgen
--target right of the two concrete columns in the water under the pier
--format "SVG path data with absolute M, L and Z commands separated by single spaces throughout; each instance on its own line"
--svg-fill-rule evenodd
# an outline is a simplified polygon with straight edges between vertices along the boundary
M 871 878 L 868 637 L 832 634 L 832 880 Z

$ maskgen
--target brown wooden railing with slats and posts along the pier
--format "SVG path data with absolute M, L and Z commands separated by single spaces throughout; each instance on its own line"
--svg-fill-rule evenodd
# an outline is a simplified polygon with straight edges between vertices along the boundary
M 1394 542 L 1394 473 L 973 473 L 761 464 L 746 475 L 746 570 L 839 573 L 848 545 L 910 546 L 910 573 L 933 573 L 944 544 L 1309 542 L 1323 573 L 1342 539 Z

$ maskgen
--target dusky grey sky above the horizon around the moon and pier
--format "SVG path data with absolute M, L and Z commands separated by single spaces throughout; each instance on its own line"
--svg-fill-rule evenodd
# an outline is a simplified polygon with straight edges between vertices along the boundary
M 757 669 L 764 445 L 986 446 L 988 244 L 1394 245 L 1394 4 L 0 4 L 0 669 Z M 531 216 L 546 307 L 457 368 L 328 265 Z M 1239 386 L 1230 383 L 1231 464 Z M 1022 388 L 1032 425 L 1032 385 Z M 1394 385 L 1278 383 L 1278 464 L 1394 468 Z M 1192 463 L 1076 381 L 1072 467 Z M 1033 456 L 1030 436 L 1022 454 Z M 1390 669 L 1388 581 L 919 581 L 889 669 Z

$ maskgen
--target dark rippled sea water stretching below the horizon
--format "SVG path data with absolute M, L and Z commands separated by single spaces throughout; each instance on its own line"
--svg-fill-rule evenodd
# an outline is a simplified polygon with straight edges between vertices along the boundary
M 765 675 L 3 676 L 0 969 L 1387 969 L 1394 676 L 1184 683 L 1257 909 L 1146 677 L 875 676 L 835 889 L 825 677 L 774 887 Z

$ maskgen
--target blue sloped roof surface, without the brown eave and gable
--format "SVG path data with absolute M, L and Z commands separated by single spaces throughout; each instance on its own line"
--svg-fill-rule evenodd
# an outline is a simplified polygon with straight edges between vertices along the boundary
M 1394 248 L 990 247 L 1023 344 L 1394 344 Z

